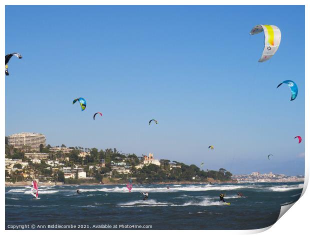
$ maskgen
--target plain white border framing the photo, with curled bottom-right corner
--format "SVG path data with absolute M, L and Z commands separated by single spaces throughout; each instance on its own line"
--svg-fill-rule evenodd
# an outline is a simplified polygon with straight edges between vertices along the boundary
M 5 5 L 305 5 L 305 28 L 309 28 L 309 3 L 306 0 L 217 0 L 217 1 L 212 1 L 212 0 L 27 0 L 26 2 L 24 0 L 2 0 L 0 2 L 0 54 L 5 53 Z M 289 17 L 289 16 L 288 16 Z M 305 30 L 305 42 L 308 42 L 309 35 L 308 35 L 308 30 Z M 309 46 L 307 43 L 305 43 L 305 77 L 309 77 L 309 71 L 308 67 L 306 66 L 309 64 L 308 60 L 308 54 L 309 54 Z M 4 63 L 4 58 L 2 56 L 2 64 Z M 5 75 L 4 72 L 2 73 L 2 76 L 0 78 L 0 98 L 1 100 L 5 100 Z M 305 141 L 305 156 L 307 156 L 307 146 L 310 146 L 309 140 L 307 139 L 308 137 L 308 130 L 309 130 L 309 125 L 308 121 L 310 118 L 309 115 L 309 107 L 310 107 L 310 97 L 309 97 L 309 82 L 307 79 L 305 79 L 305 136 L 304 136 L 304 141 Z M 3 110 L 4 109 L 4 101 L 1 103 L 1 112 L 0 112 L 0 133 L 2 138 L 5 135 L 5 113 Z M 3 141 L 3 139 L 2 139 Z M 0 155 L 4 158 L 4 144 L 0 145 Z M 4 168 L 4 160 L 2 159 L 1 161 L 1 166 L 2 169 Z M 4 178 L 4 170 L 0 170 L 1 172 L 1 178 Z M 256 230 L 194 230 L 193 232 L 195 233 L 213 233 L 216 232 L 216 234 L 250 234 L 250 233 L 257 233 L 265 231 L 265 234 L 292 234 L 296 232 L 305 232 L 307 229 L 307 216 L 306 212 L 309 207 L 309 198 L 310 194 L 309 192 L 306 192 L 306 186 L 308 184 L 308 179 L 309 179 L 309 162 L 305 157 L 305 182 L 304 182 L 304 188 L 302 190 L 302 197 L 295 202 L 295 204 L 290 208 L 289 213 L 285 213 L 284 216 L 282 216 L 274 225 L 272 225 L 271 229 L 267 228 L 262 228 L 262 229 L 256 229 Z M 4 187 L 1 187 L 1 208 L 3 211 L 1 213 L 1 227 L 4 230 L 5 229 L 5 223 L 4 223 L 4 211 L 5 211 L 5 200 L 4 200 Z M 25 215 L 26 216 L 26 215 Z M 270 226 L 271 227 L 271 226 Z M 181 234 L 187 234 L 191 230 L 180 230 L 180 231 L 173 231 L 173 230 L 165 230 L 165 232 L 171 233 L 181 233 Z M 5 233 L 11 234 L 11 233 L 16 233 L 19 231 L 12 231 L 12 230 L 5 230 Z M 39 230 L 26 230 L 23 231 L 25 234 L 33 234 L 33 233 L 41 233 L 42 231 Z M 44 230 L 44 233 L 54 233 L 52 230 Z M 65 233 L 85 233 L 87 232 L 86 230 L 65 230 Z M 150 230 L 150 231 L 134 231 L 134 230 L 91 230 L 92 233 L 139 233 L 139 234 L 155 234 L 158 231 L 157 230 Z

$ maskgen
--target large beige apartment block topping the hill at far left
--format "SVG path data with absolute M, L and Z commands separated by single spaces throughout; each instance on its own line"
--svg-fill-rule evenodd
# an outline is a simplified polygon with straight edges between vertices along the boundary
M 45 135 L 40 133 L 22 132 L 8 135 L 7 144 L 18 149 L 29 148 L 29 150 L 39 151 L 40 144 L 46 146 L 46 138 Z

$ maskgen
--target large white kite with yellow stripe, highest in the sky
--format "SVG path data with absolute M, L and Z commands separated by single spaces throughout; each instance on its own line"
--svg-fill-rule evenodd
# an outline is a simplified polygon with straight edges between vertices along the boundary
M 253 35 L 260 33 L 262 31 L 265 34 L 265 42 L 262 54 L 258 62 L 263 62 L 271 58 L 272 55 L 274 55 L 277 49 L 279 48 L 281 41 L 281 31 L 275 25 L 258 24 L 252 28 L 249 34 Z

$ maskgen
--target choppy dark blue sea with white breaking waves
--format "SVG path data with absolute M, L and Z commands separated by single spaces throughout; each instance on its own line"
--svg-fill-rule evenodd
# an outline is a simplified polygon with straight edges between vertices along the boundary
M 48 229 L 48 225 L 72 224 L 79 229 L 98 229 L 94 225 L 100 229 L 137 229 L 132 225 L 151 225 L 148 229 L 256 229 L 273 224 L 280 206 L 296 201 L 302 187 L 300 182 L 133 184 L 128 192 L 125 185 L 39 185 L 40 199 L 33 199 L 30 186 L 5 187 L 5 227 L 34 224 L 35 229 L 37 225 Z M 140 191 L 148 192 L 147 200 L 142 200 Z M 237 197 L 239 191 L 244 197 Z M 220 192 L 226 194 L 224 199 L 230 205 L 219 202 Z

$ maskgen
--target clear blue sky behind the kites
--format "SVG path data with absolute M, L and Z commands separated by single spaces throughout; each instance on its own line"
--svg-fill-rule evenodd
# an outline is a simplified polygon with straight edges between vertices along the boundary
M 256 24 L 282 34 L 263 63 L 263 34 L 248 34 Z M 6 6 L 5 52 L 15 51 L 6 135 L 232 173 L 304 173 L 304 143 L 293 139 L 304 136 L 303 6 Z M 276 89 L 287 79 L 293 101 Z M 76 97 L 87 100 L 82 112 Z

